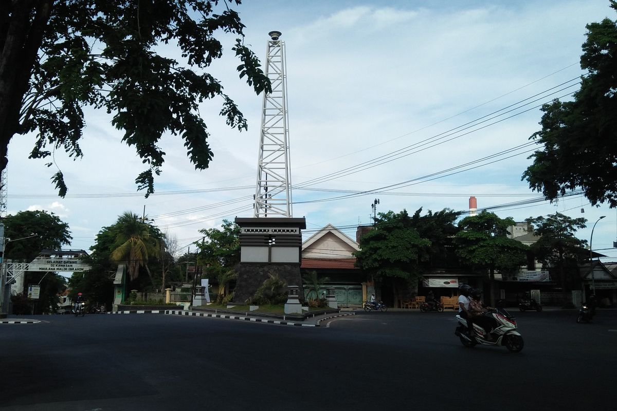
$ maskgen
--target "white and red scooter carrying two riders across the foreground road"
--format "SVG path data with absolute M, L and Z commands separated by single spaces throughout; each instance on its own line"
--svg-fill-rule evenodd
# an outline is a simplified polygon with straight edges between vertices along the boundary
M 489 346 L 505 346 L 511 352 L 519 352 L 523 349 L 523 336 L 516 331 L 516 319 L 505 309 L 494 309 L 484 313 L 496 324 L 491 330 L 493 341 L 487 340 L 486 330 L 478 324 L 473 324 L 474 335 L 469 335 L 467 330 L 467 320 L 457 315 L 458 327 L 454 334 L 460 338 L 461 343 L 466 347 L 474 347 L 478 344 Z

